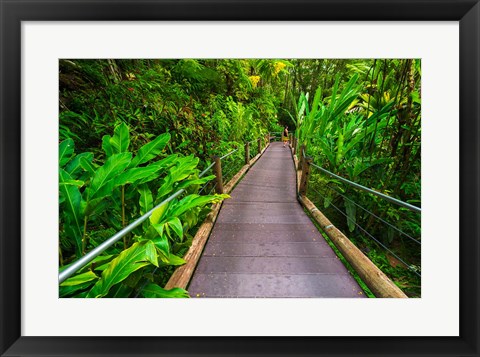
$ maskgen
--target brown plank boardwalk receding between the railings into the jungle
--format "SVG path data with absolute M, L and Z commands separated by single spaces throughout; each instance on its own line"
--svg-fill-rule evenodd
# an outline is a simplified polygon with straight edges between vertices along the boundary
M 192 297 L 365 297 L 296 198 L 291 152 L 272 143 L 225 200 Z

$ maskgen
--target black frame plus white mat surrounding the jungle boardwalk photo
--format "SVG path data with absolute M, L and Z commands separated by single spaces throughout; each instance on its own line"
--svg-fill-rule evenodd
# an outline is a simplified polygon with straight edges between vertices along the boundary
M 480 355 L 477 0 L 0 4 L 2 356 Z M 420 59 L 421 297 L 59 298 L 69 58 Z

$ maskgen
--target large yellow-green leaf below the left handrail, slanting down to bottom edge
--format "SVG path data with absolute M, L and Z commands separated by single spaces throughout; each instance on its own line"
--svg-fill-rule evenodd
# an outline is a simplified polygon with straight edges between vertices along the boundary
M 103 271 L 101 279 L 90 290 L 87 297 L 98 298 L 107 295 L 112 286 L 125 280 L 138 269 L 152 264 L 150 261 L 152 246 L 155 249 L 153 242 L 142 241 L 134 243 L 121 252 Z

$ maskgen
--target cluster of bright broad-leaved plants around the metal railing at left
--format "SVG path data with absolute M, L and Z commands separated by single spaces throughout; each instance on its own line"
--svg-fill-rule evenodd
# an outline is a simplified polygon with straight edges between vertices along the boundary
M 117 231 L 128 221 L 151 211 L 154 204 L 158 205 L 174 192 L 213 178 L 198 178 L 196 166 L 199 160 L 193 155 L 167 156 L 164 149 L 169 134 L 159 135 L 136 153 L 128 151 L 131 136 L 125 123 L 115 127 L 113 137 L 105 135 L 103 138 L 104 162 L 94 163 L 91 153 L 75 155 L 72 139 L 59 145 L 62 258 L 72 253 L 74 257 L 83 255 L 109 238 L 108 227 Z M 168 266 L 185 263 L 172 252 L 171 246 L 184 242 L 185 233 L 193 227 L 192 221 L 203 207 L 225 198 L 228 195 L 189 193 L 160 205 L 153 211 L 150 224 L 145 222 L 136 228 L 133 237 L 115 244 L 62 283 L 60 296 L 90 298 L 138 294 L 144 279 L 154 283 L 153 269 L 160 269 L 157 274 L 162 276 Z M 98 265 L 99 262 L 102 264 Z M 149 291 L 142 293 L 143 296 L 184 297 L 187 294 L 183 290 L 163 292 L 150 288 Z

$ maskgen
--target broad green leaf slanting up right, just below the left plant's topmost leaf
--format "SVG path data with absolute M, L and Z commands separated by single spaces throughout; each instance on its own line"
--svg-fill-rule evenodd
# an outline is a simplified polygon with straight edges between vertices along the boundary
M 129 152 L 109 157 L 105 164 L 95 171 L 88 190 L 88 198 L 105 197 L 110 194 L 115 187 L 115 177 L 125 170 L 131 158 L 132 154 Z

